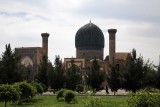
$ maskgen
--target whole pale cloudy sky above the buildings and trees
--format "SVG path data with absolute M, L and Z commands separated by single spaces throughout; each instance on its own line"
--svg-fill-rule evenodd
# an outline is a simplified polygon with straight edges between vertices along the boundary
M 159 64 L 160 0 L 0 0 L 0 54 L 5 45 L 41 47 L 41 33 L 49 33 L 48 57 L 76 57 L 75 35 L 91 20 L 105 37 L 117 29 L 116 52 L 133 48 L 144 60 Z

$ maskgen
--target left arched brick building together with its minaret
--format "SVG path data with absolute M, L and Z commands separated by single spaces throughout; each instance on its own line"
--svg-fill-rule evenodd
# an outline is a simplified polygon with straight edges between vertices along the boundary
M 21 63 L 31 71 L 30 79 L 33 80 L 38 65 L 44 55 L 48 56 L 48 33 L 42 33 L 42 47 L 21 47 L 15 48 L 21 58 Z

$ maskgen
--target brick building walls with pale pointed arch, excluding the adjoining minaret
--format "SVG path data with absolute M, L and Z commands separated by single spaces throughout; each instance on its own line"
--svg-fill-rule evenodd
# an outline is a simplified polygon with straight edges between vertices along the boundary
M 20 55 L 21 63 L 30 69 L 30 79 L 33 80 L 37 74 L 38 65 L 45 54 L 45 49 L 41 47 L 22 47 L 15 50 Z

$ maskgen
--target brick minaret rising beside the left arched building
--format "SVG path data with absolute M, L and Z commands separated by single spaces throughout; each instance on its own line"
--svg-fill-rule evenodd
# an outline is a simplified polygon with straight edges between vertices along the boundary
M 41 33 L 42 36 L 42 48 L 45 49 L 45 55 L 48 57 L 48 37 L 49 33 Z

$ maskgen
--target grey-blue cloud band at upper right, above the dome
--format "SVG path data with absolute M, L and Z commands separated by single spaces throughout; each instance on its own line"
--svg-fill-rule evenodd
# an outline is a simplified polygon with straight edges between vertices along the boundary
M 72 11 L 78 16 L 85 14 L 107 19 L 159 22 L 158 4 L 158 0 L 92 0 Z

